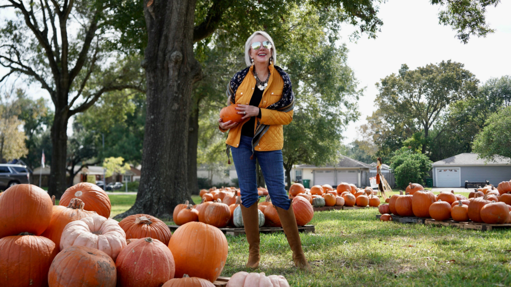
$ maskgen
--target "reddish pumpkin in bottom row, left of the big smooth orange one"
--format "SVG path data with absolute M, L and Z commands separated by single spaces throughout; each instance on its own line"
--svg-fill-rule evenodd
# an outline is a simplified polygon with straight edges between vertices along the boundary
M 160 287 L 174 278 L 176 268 L 171 250 L 151 237 L 130 243 L 119 253 L 115 266 L 117 285 L 122 287 Z

